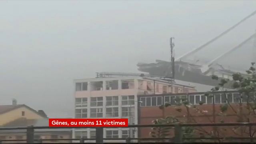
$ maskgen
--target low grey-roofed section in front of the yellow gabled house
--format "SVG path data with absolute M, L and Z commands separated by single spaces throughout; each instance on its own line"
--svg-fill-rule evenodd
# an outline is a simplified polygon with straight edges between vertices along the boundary
M 25 127 L 25 126 L 48 126 L 48 118 L 40 119 L 27 119 L 18 118 L 12 122 L 4 124 L 2 127 Z M 0 130 L 0 140 L 2 143 L 26 143 L 26 130 Z M 43 143 L 70 143 L 71 140 L 65 140 L 72 138 L 71 129 L 34 129 L 34 140 L 42 139 Z M 47 140 L 58 139 L 58 140 Z M 64 139 L 64 140 L 62 140 Z

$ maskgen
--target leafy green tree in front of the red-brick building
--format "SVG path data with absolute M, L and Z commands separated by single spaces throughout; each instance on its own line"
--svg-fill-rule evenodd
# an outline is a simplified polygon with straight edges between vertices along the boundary
M 219 80 L 220 83 L 218 86 L 215 86 L 210 91 L 205 93 L 205 96 L 208 98 L 212 98 L 212 115 L 208 113 L 208 110 L 202 109 L 200 106 L 203 102 L 199 102 L 199 105 L 190 104 L 188 102 L 188 98 L 178 98 L 175 100 L 174 108 L 177 112 L 185 111 L 185 115 L 182 118 L 178 118 L 176 116 L 169 116 L 163 119 L 153 121 L 154 124 L 162 124 L 162 123 L 198 123 L 196 120 L 196 116 L 193 114 L 200 114 L 205 116 L 209 122 L 226 122 L 226 116 L 230 112 L 232 112 L 236 117 L 236 122 L 255 122 L 256 117 L 256 96 L 254 94 L 256 88 L 256 69 L 254 68 L 255 63 L 251 63 L 251 67 L 249 70 L 246 71 L 248 74 L 247 76 L 243 76 L 240 73 L 233 74 L 233 80 L 229 80 L 226 78 L 218 78 L 218 76 L 213 75 L 212 79 Z M 232 86 L 233 89 L 238 90 L 239 95 L 236 96 L 237 104 L 232 104 L 229 102 L 228 99 L 228 90 L 226 87 L 227 85 Z M 219 106 L 220 112 L 217 114 L 215 111 L 216 104 L 215 104 L 215 96 L 216 92 L 222 91 L 224 98 L 226 99 L 226 104 L 222 104 Z M 171 106 L 170 103 L 164 104 L 164 106 L 160 106 L 160 109 L 164 109 Z M 218 119 L 216 118 L 218 117 Z M 211 118 L 212 117 L 212 118 Z M 159 129 L 153 128 L 152 132 L 150 133 L 153 137 L 161 137 L 165 138 L 170 135 L 170 130 L 172 128 L 167 129 Z M 252 128 L 252 126 L 245 127 L 245 126 L 236 126 L 233 128 L 226 128 L 226 127 L 214 127 L 212 130 L 206 130 L 205 128 L 198 127 L 198 128 L 188 128 L 189 130 L 183 129 L 186 133 L 184 137 L 193 137 L 194 135 L 198 135 L 201 138 L 210 137 L 210 138 L 217 138 L 217 141 L 214 142 L 223 142 L 226 140 L 227 137 L 232 136 L 239 136 L 243 137 L 248 135 L 250 137 L 251 142 L 253 142 L 253 137 L 255 137 L 256 129 Z M 232 134 L 230 134 L 232 131 Z M 157 133 L 158 132 L 158 133 Z M 197 136 L 197 137 L 198 137 Z M 220 139 L 220 137 L 224 139 Z M 201 140 L 205 141 L 205 140 Z

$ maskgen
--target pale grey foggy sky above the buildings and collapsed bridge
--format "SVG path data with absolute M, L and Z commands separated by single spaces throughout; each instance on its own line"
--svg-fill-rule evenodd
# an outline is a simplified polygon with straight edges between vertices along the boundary
M 74 79 L 169 60 L 171 36 L 180 56 L 255 8 L 255 1 L 0 1 L 0 105 L 16 98 L 50 117 L 72 117 Z

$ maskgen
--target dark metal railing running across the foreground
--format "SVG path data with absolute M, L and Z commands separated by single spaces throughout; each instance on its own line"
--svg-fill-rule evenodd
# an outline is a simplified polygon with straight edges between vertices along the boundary
M 191 143 L 191 142 L 183 142 L 183 140 L 187 139 L 249 139 L 250 142 L 254 142 L 254 137 L 233 137 L 233 138 L 222 138 L 222 137 L 216 137 L 216 138 L 183 138 L 182 134 L 182 127 L 197 127 L 197 126 L 256 126 L 256 123 L 201 123 L 201 124 L 149 124 L 149 125 L 129 125 L 128 128 L 145 128 L 145 127 L 173 127 L 174 128 L 174 137 L 173 138 L 103 138 L 103 127 L 96 127 L 96 138 L 71 138 L 71 139 L 34 139 L 34 129 L 56 129 L 56 128 L 88 128 L 88 127 L 48 127 L 48 126 L 28 126 L 28 127 L 1 127 L 0 130 L 26 130 L 26 140 L 0 140 L 0 143 L 2 142 L 26 142 L 28 144 L 32 143 L 42 143 L 43 141 L 73 141 L 73 140 L 79 140 L 80 143 L 84 143 L 85 140 L 95 140 L 97 144 L 107 144 L 107 142 L 104 142 L 104 140 L 126 140 L 125 143 L 157 143 L 155 141 L 150 140 L 170 140 L 170 142 L 160 142 L 160 143 L 175 143 L 175 144 L 182 144 L 182 143 Z M 95 128 L 95 127 L 94 127 Z M 111 127 L 108 127 L 111 128 Z M 113 127 L 114 128 L 114 127 Z M 116 127 L 115 127 L 116 128 Z M 131 140 L 148 140 L 147 142 L 131 142 Z M 88 143 L 88 142 L 86 142 Z M 111 142 L 113 143 L 113 142 Z M 120 144 L 120 142 L 117 142 Z M 212 142 L 200 142 L 200 143 L 212 143 Z M 230 142 L 222 142 L 222 143 L 230 143 Z M 232 142 L 236 143 L 236 142 Z M 237 142 L 237 143 L 243 143 L 243 142 Z M 244 142 L 248 143 L 248 142 Z

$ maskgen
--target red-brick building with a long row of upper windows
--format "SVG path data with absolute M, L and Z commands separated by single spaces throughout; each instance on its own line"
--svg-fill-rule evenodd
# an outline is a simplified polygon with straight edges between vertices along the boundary
M 256 93 L 248 99 L 245 95 L 240 95 L 238 91 L 227 91 L 227 92 L 214 92 L 213 97 L 205 96 L 204 92 L 194 92 L 188 94 L 153 94 L 153 95 L 140 95 L 138 100 L 142 101 L 138 104 L 138 124 L 153 124 L 152 121 L 160 118 L 166 118 L 167 116 L 174 116 L 180 120 L 185 120 L 184 116 L 187 116 L 187 110 L 185 106 L 177 107 L 175 105 L 177 98 L 185 98 L 192 105 L 196 105 L 197 108 L 202 110 L 198 111 L 191 106 L 190 116 L 196 122 L 192 123 L 220 123 L 220 122 L 237 122 L 238 115 L 232 110 L 238 110 L 239 100 L 242 101 L 243 105 L 246 105 L 247 100 L 249 102 L 254 102 L 256 98 Z M 241 98 L 241 99 L 240 99 Z M 213 103 L 214 100 L 214 103 Z M 221 115 L 221 106 L 227 104 L 227 100 L 232 108 L 228 108 L 225 115 Z M 166 102 L 170 103 L 171 106 L 160 109 L 159 106 L 164 105 Z M 203 104 L 200 104 L 203 102 Z M 179 110 L 177 110 L 177 108 Z M 245 109 L 242 111 L 244 114 L 248 114 Z M 253 116 L 250 120 L 251 122 L 256 122 Z M 233 128 L 233 127 L 232 127 Z M 226 128 L 226 131 L 222 132 L 225 136 L 236 136 L 232 131 L 232 128 Z M 212 127 L 203 128 L 207 132 L 211 132 Z M 139 128 L 138 137 L 140 138 L 151 138 L 150 136 L 151 128 Z M 170 137 L 174 136 L 171 132 Z

